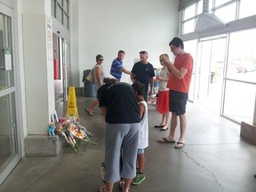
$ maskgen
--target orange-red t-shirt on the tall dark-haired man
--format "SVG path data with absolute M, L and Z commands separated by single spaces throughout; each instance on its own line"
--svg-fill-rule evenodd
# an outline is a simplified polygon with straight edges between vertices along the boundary
M 179 70 L 180 68 L 186 68 L 188 69 L 188 72 L 182 79 L 178 79 L 171 72 L 168 80 L 167 88 L 176 92 L 188 92 L 192 71 L 193 71 L 192 56 L 189 53 L 185 53 L 180 56 L 177 56 L 174 60 L 173 65 L 175 66 L 175 68 L 178 68 Z

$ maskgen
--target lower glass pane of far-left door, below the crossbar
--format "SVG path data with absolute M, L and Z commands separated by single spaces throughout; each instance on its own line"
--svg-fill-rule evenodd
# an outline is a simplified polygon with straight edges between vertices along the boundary
M 14 93 L 0 97 L 0 171 L 18 153 Z

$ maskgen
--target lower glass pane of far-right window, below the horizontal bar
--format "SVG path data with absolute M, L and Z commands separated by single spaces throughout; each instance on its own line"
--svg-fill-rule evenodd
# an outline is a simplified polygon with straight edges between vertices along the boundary
M 223 115 L 239 123 L 252 122 L 255 90 L 255 84 L 227 80 Z

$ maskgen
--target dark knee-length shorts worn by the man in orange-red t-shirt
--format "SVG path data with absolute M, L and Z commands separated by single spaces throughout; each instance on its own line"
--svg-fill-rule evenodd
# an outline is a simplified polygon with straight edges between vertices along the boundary
M 169 109 L 172 113 L 175 113 L 177 116 L 183 115 L 186 113 L 186 106 L 188 100 L 187 92 L 175 92 L 169 91 Z

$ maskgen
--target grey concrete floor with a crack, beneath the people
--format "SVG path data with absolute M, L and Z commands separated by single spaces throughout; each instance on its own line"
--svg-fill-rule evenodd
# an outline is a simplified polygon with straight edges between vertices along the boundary
M 100 164 L 104 158 L 104 121 L 99 108 L 94 116 L 84 112 L 92 98 L 76 97 L 80 122 L 93 133 L 98 145 L 79 143 L 80 151 L 64 147 L 57 157 L 25 157 L 0 187 L 4 192 L 98 191 Z M 58 108 L 58 115 L 62 109 Z M 188 102 L 186 146 L 156 142 L 167 135 L 153 128 L 161 116 L 148 108 L 149 147 L 147 180 L 130 191 L 137 192 L 255 192 L 256 148 L 240 139 L 240 125 Z M 178 140 L 180 130 L 176 132 Z M 119 191 L 117 185 L 115 191 Z

